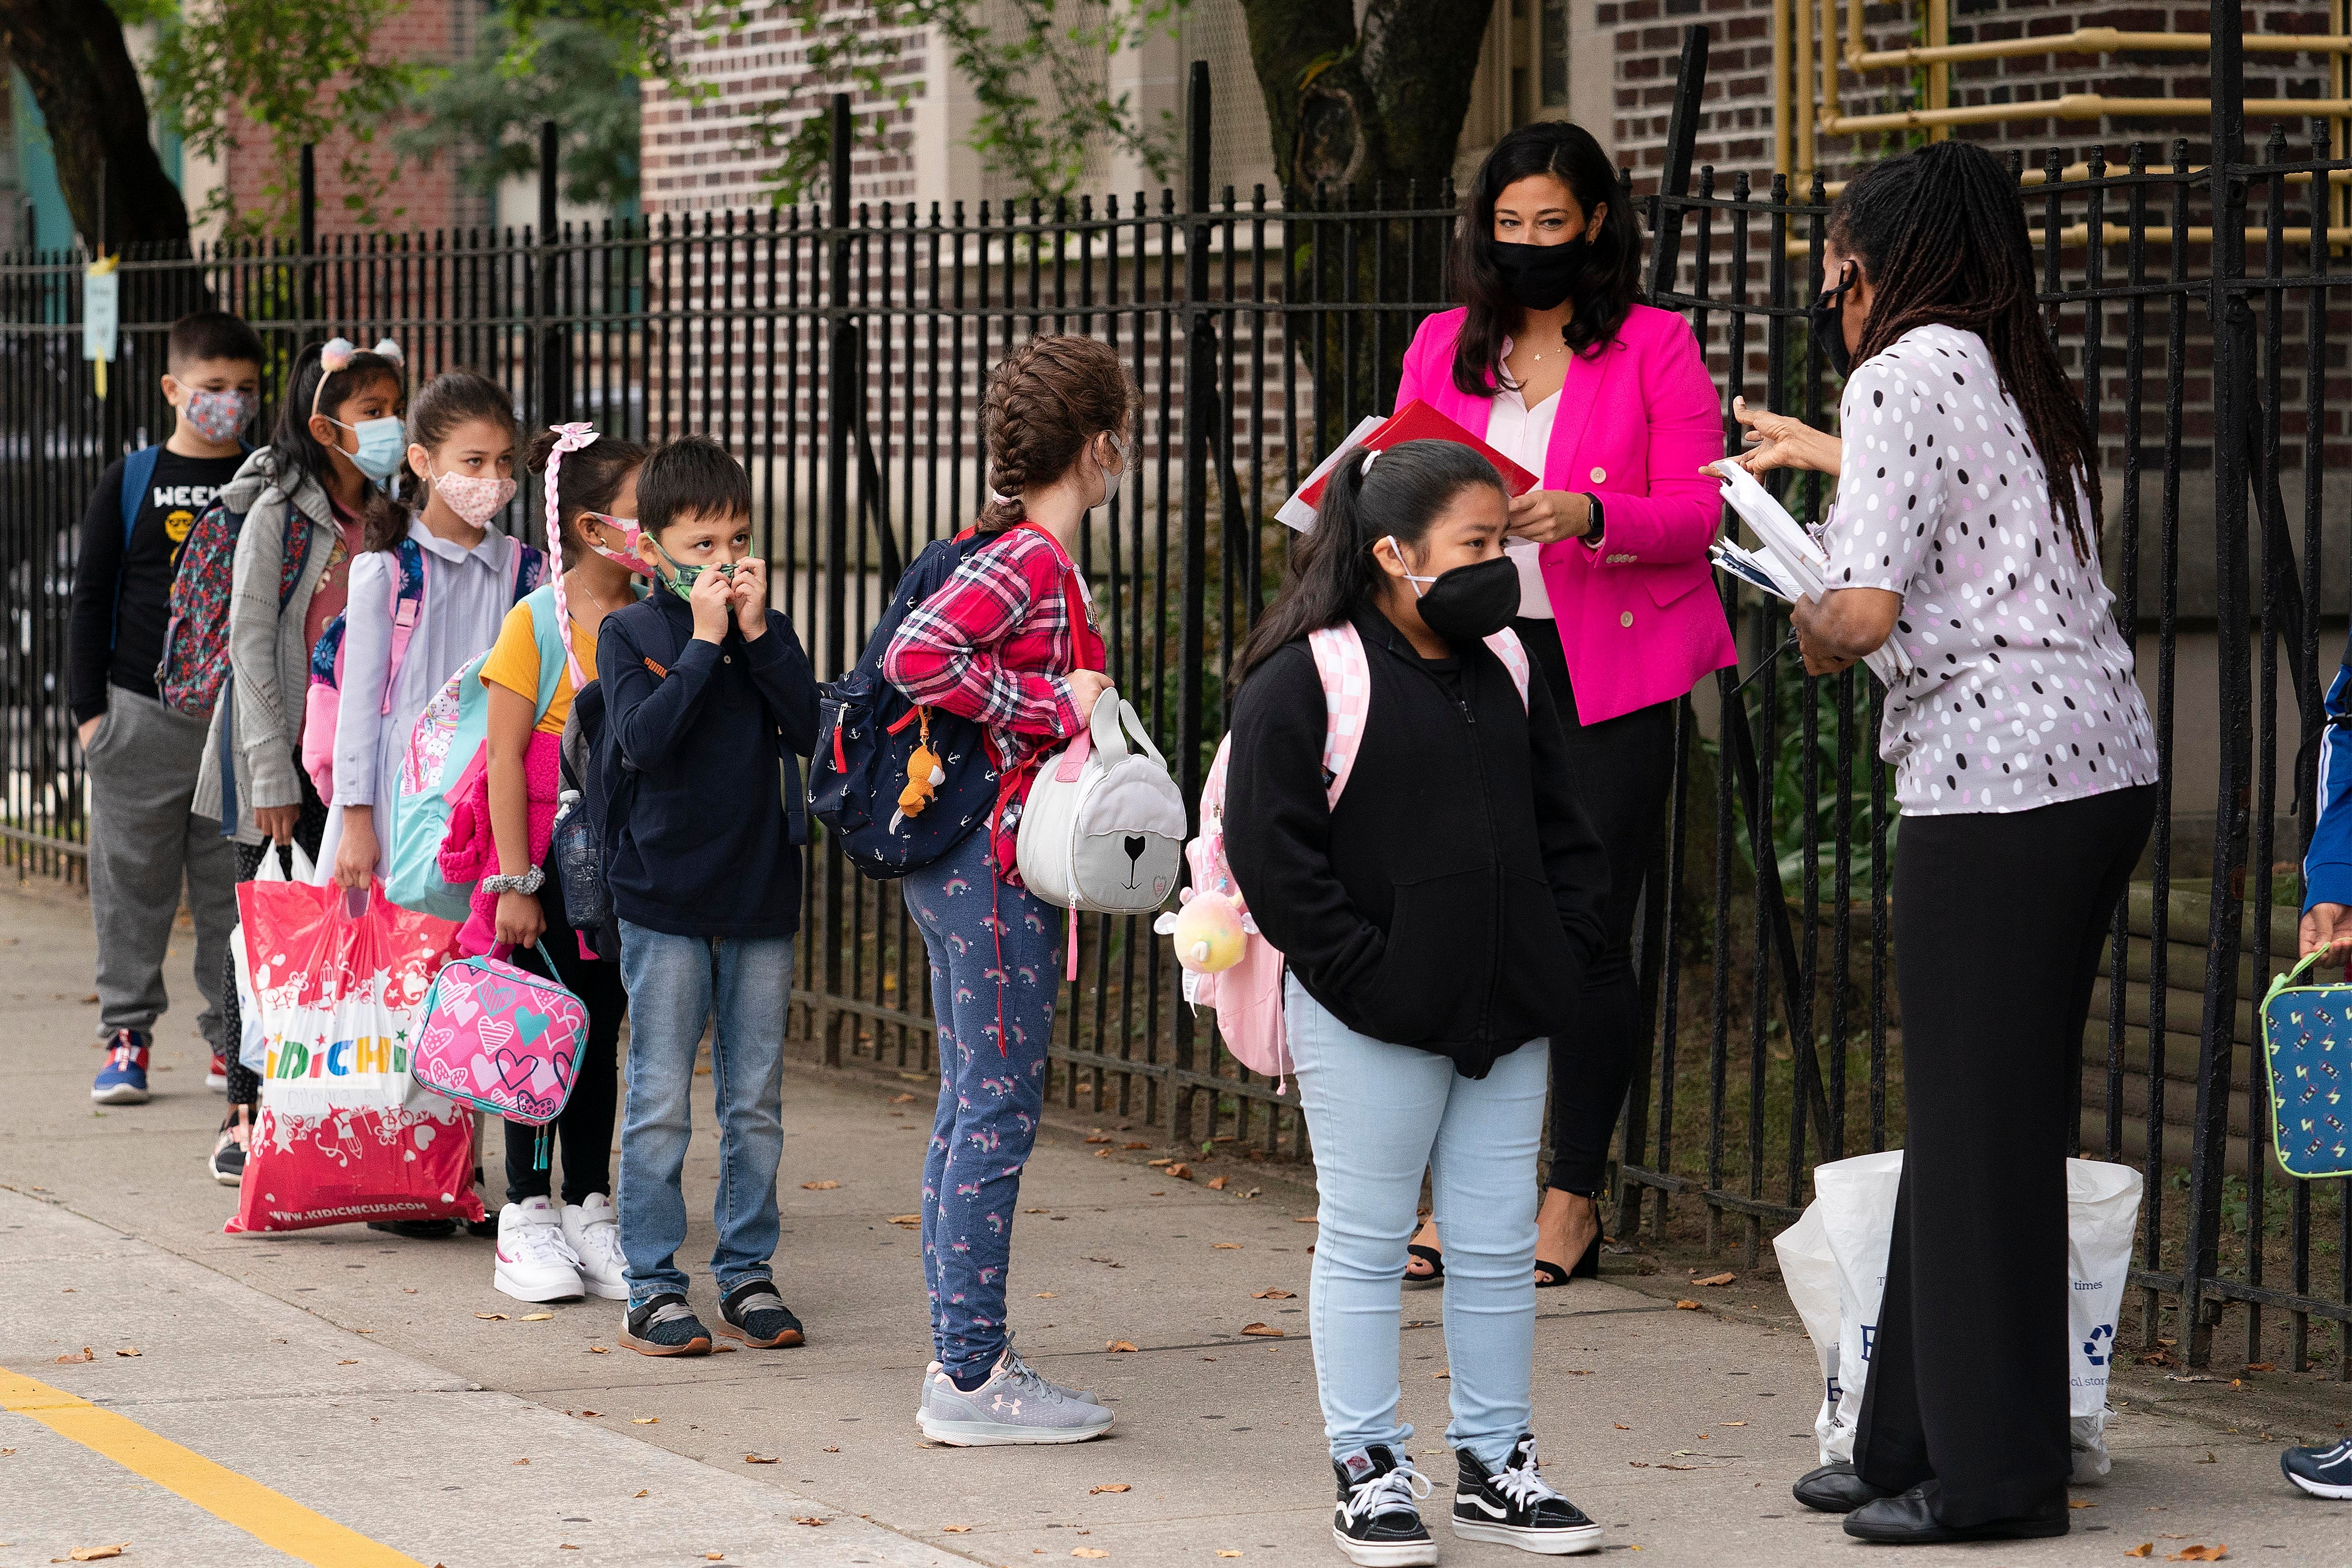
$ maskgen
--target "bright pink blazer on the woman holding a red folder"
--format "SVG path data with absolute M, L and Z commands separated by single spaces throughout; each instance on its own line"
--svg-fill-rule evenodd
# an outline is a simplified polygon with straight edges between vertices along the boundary
M 1444 310 L 1421 322 L 1404 350 L 1397 407 L 1418 397 L 1484 437 L 1494 400 L 1454 386 L 1463 315 Z M 1708 545 L 1724 503 L 1717 482 L 1698 470 L 1719 456 L 1715 378 L 1689 322 L 1672 310 L 1635 306 L 1609 348 L 1569 360 L 1543 489 L 1599 496 L 1602 548 L 1562 538 L 1541 559 L 1578 722 L 1679 698 L 1738 661 L 1722 599 L 1708 590 Z

